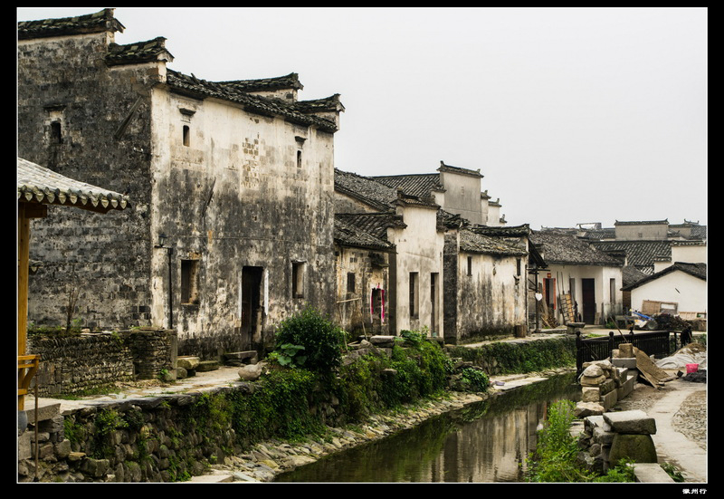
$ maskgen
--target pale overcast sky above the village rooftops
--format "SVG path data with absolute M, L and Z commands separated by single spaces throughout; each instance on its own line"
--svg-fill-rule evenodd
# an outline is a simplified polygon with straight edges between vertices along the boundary
M 18 20 L 103 7 L 19 7 Z M 341 95 L 337 168 L 480 168 L 510 226 L 707 223 L 703 7 L 117 7 L 209 81 L 298 72 Z

